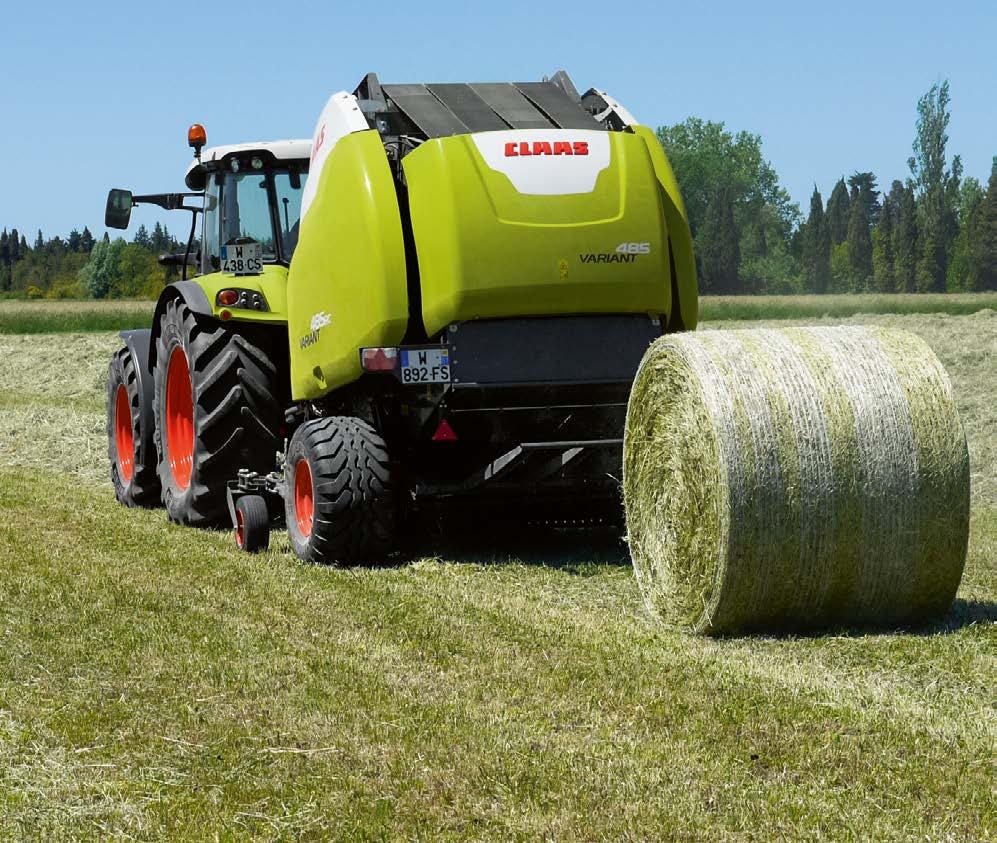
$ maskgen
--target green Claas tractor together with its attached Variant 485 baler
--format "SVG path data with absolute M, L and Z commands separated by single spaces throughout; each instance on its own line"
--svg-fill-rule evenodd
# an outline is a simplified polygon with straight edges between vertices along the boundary
M 110 364 L 118 500 L 249 551 L 283 520 L 335 563 L 384 558 L 434 507 L 619 516 L 634 372 L 697 319 L 678 187 L 625 108 L 563 72 L 368 74 L 312 141 L 188 140 L 189 192 L 108 197 L 111 227 L 192 214 L 161 258 L 182 280 Z

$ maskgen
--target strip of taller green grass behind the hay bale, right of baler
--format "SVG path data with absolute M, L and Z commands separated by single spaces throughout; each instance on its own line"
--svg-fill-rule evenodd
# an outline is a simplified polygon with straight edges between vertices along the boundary
M 860 313 L 960 316 L 980 310 L 997 310 L 997 293 L 703 296 L 699 300 L 699 316 L 704 321 L 841 318 Z

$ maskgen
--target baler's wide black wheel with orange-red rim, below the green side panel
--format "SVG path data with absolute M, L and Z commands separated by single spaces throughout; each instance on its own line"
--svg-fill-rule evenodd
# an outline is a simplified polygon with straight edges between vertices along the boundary
M 330 416 L 303 424 L 291 438 L 284 479 L 287 533 L 301 559 L 385 561 L 394 548 L 397 504 L 387 447 L 367 422 Z M 310 486 L 310 519 L 299 482 Z

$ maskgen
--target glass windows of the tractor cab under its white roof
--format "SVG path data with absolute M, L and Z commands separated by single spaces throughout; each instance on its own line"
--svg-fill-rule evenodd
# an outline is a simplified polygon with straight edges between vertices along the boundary
M 204 271 L 221 267 L 220 246 L 252 240 L 260 244 L 263 260 L 290 263 L 298 244 L 301 194 L 308 163 L 258 169 L 253 164 L 232 165 L 212 179 L 204 202 Z M 283 163 L 283 162 L 281 162 Z

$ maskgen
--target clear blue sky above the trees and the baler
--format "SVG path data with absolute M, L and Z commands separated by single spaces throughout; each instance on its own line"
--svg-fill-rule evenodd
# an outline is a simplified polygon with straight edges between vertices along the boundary
M 907 175 L 917 98 L 949 79 L 949 151 L 997 155 L 997 3 L 18 3 L 0 49 L 0 227 L 103 231 L 109 187 L 182 189 L 208 142 L 308 137 L 327 98 L 388 82 L 521 81 L 566 68 L 651 126 L 761 134 L 806 207 L 813 184 Z M 399 11 L 392 11 L 399 9 Z M 480 11 L 479 11 L 480 10 Z M 186 215 L 167 221 L 180 233 Z

